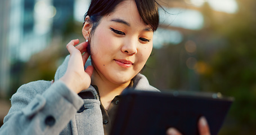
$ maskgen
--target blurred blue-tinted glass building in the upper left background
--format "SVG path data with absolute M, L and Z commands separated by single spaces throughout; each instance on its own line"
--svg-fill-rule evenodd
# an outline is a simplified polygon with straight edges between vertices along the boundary
M 73 18 L 73 5 L 74 0 L 1 1 L 1 95 L 10 89 L 12 64 L 26 62 L 34 53 L 49 46 L 52 31 L 62 31 L 65 22 Z

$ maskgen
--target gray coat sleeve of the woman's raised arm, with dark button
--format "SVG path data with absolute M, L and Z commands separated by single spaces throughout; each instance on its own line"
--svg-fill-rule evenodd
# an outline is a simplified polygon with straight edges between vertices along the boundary
M 21 86 L 11 98 L 12 107 L 0 134 L 59 134 L 83 105 L 83 100 L 57 80 Z

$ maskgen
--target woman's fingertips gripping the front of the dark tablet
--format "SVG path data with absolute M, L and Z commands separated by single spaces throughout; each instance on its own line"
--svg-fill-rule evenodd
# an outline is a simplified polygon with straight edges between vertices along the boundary
M 209 126 L 208 126 L 204 116 L 202 116 L 199 119 L 199 122 L 198 122 L 197 126 L 198 126 L 198 129 L 199 129 L 199 134 L 200 135 L 210 135 L 210 129 L 209 129 Z M 181 135 L 181 133 L 179 131 L 177 131 L 177 129 L 175 129 L 175 128 L 167 129 L 166 134 L 167 135 Z

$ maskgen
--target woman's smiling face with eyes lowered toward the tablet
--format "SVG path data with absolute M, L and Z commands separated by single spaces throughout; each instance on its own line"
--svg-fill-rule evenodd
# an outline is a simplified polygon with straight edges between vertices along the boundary
M 102 17 L 91 44 L 93 75 L 115 84 L 129 83 L 152 51 L 153 31 L 145 25 L 133 0 L 124 1 Z

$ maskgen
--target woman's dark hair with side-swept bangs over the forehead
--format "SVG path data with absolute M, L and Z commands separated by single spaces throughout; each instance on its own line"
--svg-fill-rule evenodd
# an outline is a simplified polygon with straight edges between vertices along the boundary
M 125 0 L 92 0 L 87 13 L 84 15 L 90 17 L 92 22 L 92 30 L 90 35 L 93 34 L 98 26 L 101 18 L 111 12 L 114 12 L 115 7 Z M 159 24 L 158 6 L 155 0 L 134 0 L 143 22 L 150 25 L 152 30 L 155 31 Z M 91 37 L 91 36 L 90 36 Z

